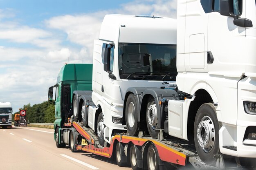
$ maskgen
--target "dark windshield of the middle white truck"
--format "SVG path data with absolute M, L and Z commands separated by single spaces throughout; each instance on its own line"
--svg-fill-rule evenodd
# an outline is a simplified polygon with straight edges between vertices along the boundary
M 118 67 L 121 79 L 133 73 L 130 79 L 170 80 L 177 75 L 176 45 L 119 43 Z

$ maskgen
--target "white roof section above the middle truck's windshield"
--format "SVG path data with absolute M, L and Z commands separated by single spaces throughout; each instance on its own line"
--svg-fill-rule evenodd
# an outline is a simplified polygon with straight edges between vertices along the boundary
M 176 44 L 176 30 L 176 20 L 171 18 L 105 15 L 99 40 L 122 43 Z

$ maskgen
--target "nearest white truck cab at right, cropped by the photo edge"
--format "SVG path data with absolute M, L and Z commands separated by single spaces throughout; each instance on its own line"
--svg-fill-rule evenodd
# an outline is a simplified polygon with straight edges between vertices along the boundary
M 169 101 L 169 135 L 194 140 L 206 163 L 256 158 L 255 55 L 255 0 L 178 0 L 177 87 L 193 97 Z

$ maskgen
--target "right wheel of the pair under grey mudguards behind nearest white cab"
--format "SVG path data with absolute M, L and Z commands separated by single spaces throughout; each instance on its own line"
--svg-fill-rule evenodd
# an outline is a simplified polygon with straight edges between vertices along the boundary
M 155 104 L 155 100 L 152 98 L 148 101 L 147 104 L 147 113 L 146 113 L 146 122 L 148 127 L 148 132 L 151 137 L 157 139 L 158 137 L 158 131 L 157 128 L 157 107 Z

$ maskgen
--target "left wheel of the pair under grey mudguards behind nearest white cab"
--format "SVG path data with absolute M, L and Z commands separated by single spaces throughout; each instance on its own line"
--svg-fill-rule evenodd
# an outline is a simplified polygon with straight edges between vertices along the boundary
M 138 109 L 136 99 L 133 94 L 130 94 L 126 100 L 125 119 L 126 127 L 130 136 L 138 136 L 139 123 L 138 123 Z

